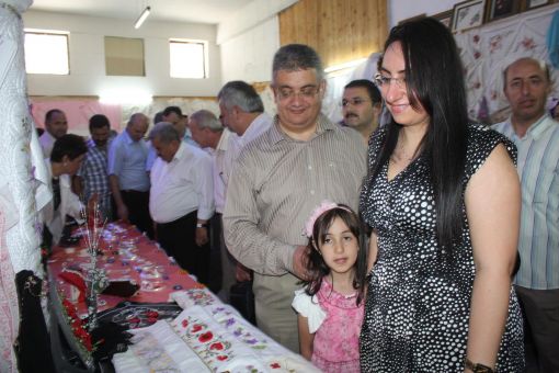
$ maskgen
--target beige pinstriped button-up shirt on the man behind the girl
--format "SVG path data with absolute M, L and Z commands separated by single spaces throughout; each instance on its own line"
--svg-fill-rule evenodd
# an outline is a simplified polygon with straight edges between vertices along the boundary
M 293 271 L 297 245 L 307 245 L 305 222 L 323 200 L 356 210 L 366 167 L 361 135 L 319 116 L 317 134 L 295 140 L 277 123 L 247 145 L 227 190 L 226 244 L 254 272 Z

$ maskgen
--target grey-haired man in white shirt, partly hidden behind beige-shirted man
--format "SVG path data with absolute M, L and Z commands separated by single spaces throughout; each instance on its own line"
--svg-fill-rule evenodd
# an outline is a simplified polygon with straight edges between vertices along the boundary
M 270 128 L 272 117 L 264 113 L 264 104 L 254 88 L 244 81 L 233 80 L 227 82 L 217 94 L 217 99 L 219 100 L 224 125 L 235 133 L 229 137 L 224 157 L 224 169 L 219 178 L 225 191 L 224 195 L 227 195 L 227 184 L 231 172 L 235 172 L 235 161 L 247 144 Z M 225 202 L 226 199 L 216 201 L 216 210 L 223 212 Z M 223 298 L 228 302 L 231 285 L 235 284 L 236 280 L 250 280 L 250 272 L 243 265 L 237 263 L 235 258 L 226 250 L 223 250 L 221 269 L 224 273 Z

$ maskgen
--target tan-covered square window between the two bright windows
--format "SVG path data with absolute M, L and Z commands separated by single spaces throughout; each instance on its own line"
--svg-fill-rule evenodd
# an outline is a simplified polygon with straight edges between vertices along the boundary
M 145 77 L 144 39 L 105 36 L 105 70 L 107 76 Z

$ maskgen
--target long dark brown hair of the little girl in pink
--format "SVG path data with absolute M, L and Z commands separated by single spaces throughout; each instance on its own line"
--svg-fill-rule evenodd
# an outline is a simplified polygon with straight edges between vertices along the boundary
M 309 279 L 301 281 L 301 283 L 305 285 L 306 293 L 312 296 L 320 290 L 323 278 L 330 274 L 330 268 L 324 262 L 319 248 L 322 244 L 324 244 L 328 230 L 336 217 L 343 221 L 343 223 L 350 228 L 350 231 L 357 239 L 358 251 L 357 259 L 354 264 L 355 275 L 353 279 L 353 289 L 357 291 L 356 303 L 358 305 L 365 295 L 365 276 L 367 271 L 367 250 L 365 248 L 366 240 L 360 218 L 345 205 L 339 204 L 339 207 L 327 211 L 315 222 L 315 226 L 312 227 L 312 237 L 309 238 L 307 247 L 309 250 L 307 262 Z

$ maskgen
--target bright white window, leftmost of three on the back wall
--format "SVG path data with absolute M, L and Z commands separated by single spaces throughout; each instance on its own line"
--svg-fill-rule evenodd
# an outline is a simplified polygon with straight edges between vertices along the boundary
M 25 71 L 69 75 L 66 31 L 25 30 Z

